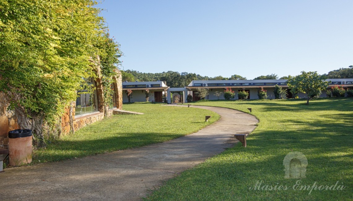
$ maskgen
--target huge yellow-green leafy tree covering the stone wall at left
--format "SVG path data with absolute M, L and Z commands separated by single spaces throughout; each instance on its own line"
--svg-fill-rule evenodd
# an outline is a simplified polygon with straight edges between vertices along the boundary
M 0 1 L 0 91 L 19 126 L 32 129 L 40 140 L 43 124 L 58 125 L 64 108 L 76 100 L 76 90 L 96 77 L 98 56 L 105 86 L 110 87 L 120 63 L 122 53 L 95 4 Z

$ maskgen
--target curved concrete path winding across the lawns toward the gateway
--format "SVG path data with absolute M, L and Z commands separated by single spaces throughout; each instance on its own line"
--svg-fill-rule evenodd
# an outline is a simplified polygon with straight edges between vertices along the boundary
M 62 162 L 5 169 L 0 200 L 140 200 L 149 189 L 234 145 L 258 120 L 237 110 L 217 112 L 216 123 L 181 138 L 141 148 Z

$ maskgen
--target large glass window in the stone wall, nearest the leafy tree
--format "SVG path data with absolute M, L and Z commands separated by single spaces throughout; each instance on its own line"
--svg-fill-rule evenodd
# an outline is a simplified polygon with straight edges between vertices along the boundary
M 97 91 L 93 89 L 95 82 L 91 79 L 87 81 L 83 90 L 77 91 L 75 117 L 98 111 Z

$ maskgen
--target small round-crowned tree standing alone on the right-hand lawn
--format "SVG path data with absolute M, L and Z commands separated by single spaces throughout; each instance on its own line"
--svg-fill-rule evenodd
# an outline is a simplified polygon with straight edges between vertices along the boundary
M 324 76 L 317 74 L 316 71 L 302 71 L 300 75 L 295 77 L 289 76 L 287 84 L 289 88 L 292 88 L 292 91 L 306 93 L 307 105 L 309 105 L 310 98 L 320 96 L 321 91 L 328 87 L 328 82 L 324 81 Z

